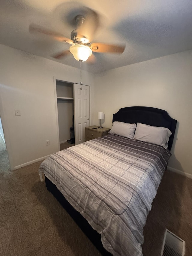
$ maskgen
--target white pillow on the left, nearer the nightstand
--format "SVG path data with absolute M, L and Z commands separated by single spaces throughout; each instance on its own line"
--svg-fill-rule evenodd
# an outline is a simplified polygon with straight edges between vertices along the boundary
M 111 131 L 109 133 L 133 139 L 136 126 L 136 124 L 113 122 Z

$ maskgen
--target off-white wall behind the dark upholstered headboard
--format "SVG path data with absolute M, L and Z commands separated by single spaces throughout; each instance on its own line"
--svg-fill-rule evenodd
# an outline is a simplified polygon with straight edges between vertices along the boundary
M 113 113 L 128 106 L 166 110 L 178 120 L 169 168 L 192 174 L 192 51 L 173 54 L 95 75 L 92 123 L 105 113 L 111 128 Z

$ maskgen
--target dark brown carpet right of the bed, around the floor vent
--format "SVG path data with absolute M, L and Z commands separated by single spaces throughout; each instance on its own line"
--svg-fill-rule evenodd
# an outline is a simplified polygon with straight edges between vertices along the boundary
M 165 228 L 186 242 L 192 255 L 192 179 L 166 171 L 144 228 L 143 255 L 161 255 Z

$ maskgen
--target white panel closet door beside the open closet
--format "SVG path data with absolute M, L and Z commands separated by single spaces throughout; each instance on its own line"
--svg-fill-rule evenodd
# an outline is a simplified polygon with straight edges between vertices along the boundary
M 73 84 L 75 145 L 85 141 L 85 127 L 89 126 L 90 87 Z

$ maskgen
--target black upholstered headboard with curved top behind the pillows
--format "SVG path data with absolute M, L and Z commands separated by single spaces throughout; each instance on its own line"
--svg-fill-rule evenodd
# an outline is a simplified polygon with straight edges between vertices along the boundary
M 113 122 L 115 121 L 135 124 L 139 122 L 170 129 L 172 135 L 169 138 L 168 149 L 171 150 L 177 120 L 171 118 L 167 111 L 154 107 L 124 107 L 113 114 Z

